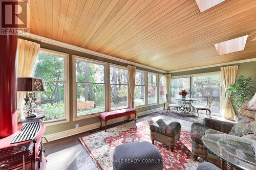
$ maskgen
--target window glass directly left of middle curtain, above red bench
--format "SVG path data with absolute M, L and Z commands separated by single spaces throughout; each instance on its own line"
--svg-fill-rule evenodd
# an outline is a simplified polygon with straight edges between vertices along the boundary
M 128 76 L 127 69 L 110 66 L 111 110 L 128 107 Z

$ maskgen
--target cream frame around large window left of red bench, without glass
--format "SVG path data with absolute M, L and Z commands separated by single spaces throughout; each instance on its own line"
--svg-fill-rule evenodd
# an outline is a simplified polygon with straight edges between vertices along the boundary
M 104 65 L 104 84 L 105 84 L 105 111 L 108 111 L 108 78 L 106 77 L 106 75 L 108 74 L 108 63 L 103 62 L 103 61 L 98 61 L 98 60 L 93 60 L 93 59 L 88 59 L 88 58 L 84 58 L 84 57 L 80 57 L 80 56 L 76 56 L 76 55 L 72 55 L 72 67 L 73 67 L 73 75 L 72 75 L 72 84 L 73 84 L 73 121 L 75 120 L 81 120 L 81 119 L 85 119 L 85 118 L 90 118 L 90 117 L 97 117 L 99 116 L 100 113 L 102 112 L 98 112 L 98 113 L 92 113 L 92 114 L 87 114 L 87 115 L 81 115 L 81 116 L 77 116 L 77 89 L 76 89 L 76 60 L 81 60 L 81 61 L 88 61 L 91 63 L 95 63 L 95 64 L 102 64 Z

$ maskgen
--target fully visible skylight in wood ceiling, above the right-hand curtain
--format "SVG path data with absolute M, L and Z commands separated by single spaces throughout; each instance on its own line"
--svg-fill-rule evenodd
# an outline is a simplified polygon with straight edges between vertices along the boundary
M 243 51 L 248 35 L 215 44 L 218 55 Z

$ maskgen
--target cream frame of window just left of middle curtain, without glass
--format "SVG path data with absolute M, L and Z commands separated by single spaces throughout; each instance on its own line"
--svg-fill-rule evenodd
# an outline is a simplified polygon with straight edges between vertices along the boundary
M 121 66 L 121 65 L 117 65 L 117 64 L 112 64 L 112 63 L 109 63 L 109 67 L 108 67 L 108 81 L 107 81 L 107 84 L 109 85 L 109 88 L 108 88 L 108 100 L 109 100 L 109 103 L 108 103 L 108 106 L 109 106 L 109 111 L 114 111 L 114 110 L 121 110 L 121 109 L 114 109 L 114 110 L 111 110 L 111 83 L 110 83 L 110 67 L 113 66 L 113 67 L 116 67 L 116 68 L 120 68 L 120 69 L 126 69 L 127 70 L 127 84 L 123 84 L 123 85 L 127 85 L 128 86 L 128 91 L 127 91 L 127 107 L 125 108 L 121 108 L 121 109 L 127 109 L 127 108 L 130 108 L 130 88 L 129 88 L 129 77 L 128 77 L 128 69 L 127 67 L 125 66 Z M 122 85 L 122 84 L 121 84 Z

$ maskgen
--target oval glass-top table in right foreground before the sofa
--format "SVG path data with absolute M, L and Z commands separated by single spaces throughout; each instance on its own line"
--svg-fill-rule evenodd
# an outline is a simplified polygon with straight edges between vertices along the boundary
M 256 141 L 228 134 L 206 134 L 202 141 L 207 149 L 225 161 L 243 169 L 256 169 Z

